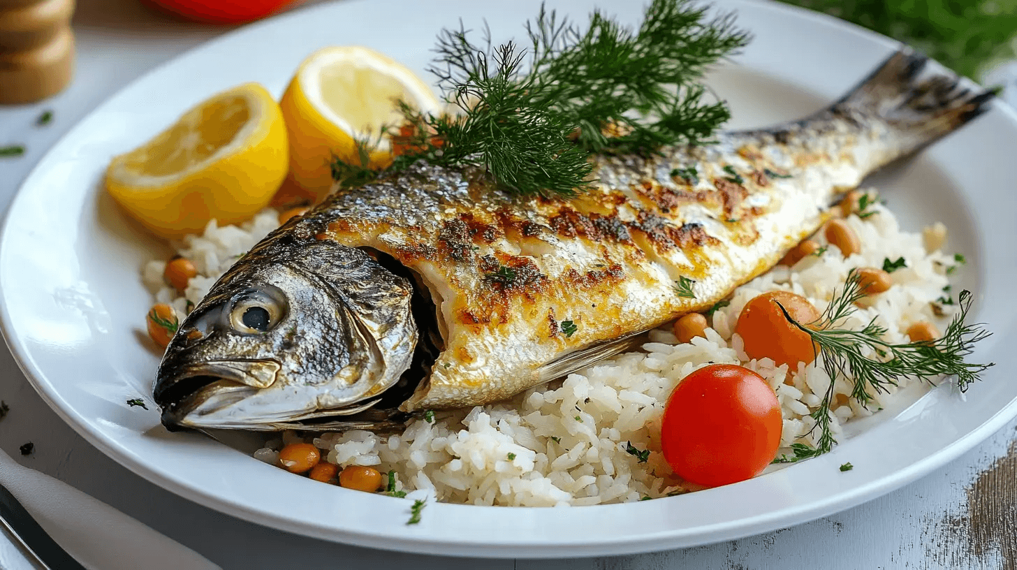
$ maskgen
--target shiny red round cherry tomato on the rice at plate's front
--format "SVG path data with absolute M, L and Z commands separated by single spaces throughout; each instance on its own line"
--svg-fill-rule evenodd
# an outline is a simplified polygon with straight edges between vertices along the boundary
M 660 443 L 681 478 L 707 487 L 758 475 L 777 455 L 780 403 L 763 377 L 735 364 L 689 375 L 664 408 Z

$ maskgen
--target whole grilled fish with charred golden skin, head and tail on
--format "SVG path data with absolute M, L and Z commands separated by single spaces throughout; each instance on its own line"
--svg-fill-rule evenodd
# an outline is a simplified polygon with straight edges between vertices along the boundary
M 385 428 L 625 349 L 766 272 L 840 193 L 985 110 L 991 94 L 924 63 L 899 52 L 794 123 L 599 157 L 596 187 L 574 200 L 421 163 L 339 190 L 183 322 L 155 385 L 163 423 Z

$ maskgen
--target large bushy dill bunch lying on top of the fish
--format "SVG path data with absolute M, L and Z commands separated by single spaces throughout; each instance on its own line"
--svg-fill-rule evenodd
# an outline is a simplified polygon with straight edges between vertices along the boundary
M 523 45 L 491 43 L 485 30 L 438 34 L 429 71 L 459 116 L 401 103 L 406 122 L 388 171 L 419 160 L 478 166 L 499 187 L 572 196 L 589 187 L 594 153 L 651 155 L 665 145 L 703 145 L 730 118 L 704 101 L 706 68 L 745 46 L 731 14 L 708 18 L 694 0 L 653 0 L 637 30 L 594 11 L 586 27 L 541 7 Z M 364 147 L 367 150 L 368 147 Z M 333 166 L 358 183 L 367 164 Z

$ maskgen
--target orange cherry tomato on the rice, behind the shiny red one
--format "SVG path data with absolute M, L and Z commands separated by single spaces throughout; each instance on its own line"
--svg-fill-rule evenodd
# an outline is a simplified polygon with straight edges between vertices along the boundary
M 815 360 L 819 347 L 807 333 L 787 320 L 781 306 L 801 325 L 820 318 L 820 311 L 805 297 L 789 291 L 770 291 L 745 303 L 734 332 L 741 337 L 750 358 L 772 358 L 777 365 L 787 364 L 793 369 L 798 362 Z

